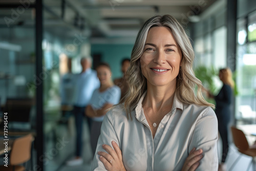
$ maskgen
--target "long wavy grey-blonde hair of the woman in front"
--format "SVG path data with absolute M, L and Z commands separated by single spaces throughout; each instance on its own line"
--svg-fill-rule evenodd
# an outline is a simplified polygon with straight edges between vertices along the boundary
M 157 15 L 148 19 L 141 27 L 132 50 L 130 67 L 126 73 L 129 91 L 121 100 L 121 102 L 124 102 L 127 117 L 131 117 L 131 111 L 134 110 L 139 99 L 147 90 L 146 78 L 141 72 L 139 59 L 143 53 L 147 33 L 152 27 L 168 27 L 181 49 L 183 55 L 181 60 L 182 67 L 177 76 L 176 84 L 176 96 L 178 100 L 186 104 L 195 103 L 215 108 L 214 104 L 208 103 L 202 96 L 202 83 L 196 78 L 192 69 L 195 57 L 194 50 L 184 29 L 173 16 Z M 197 92 L 196 94 L 195 91 Z

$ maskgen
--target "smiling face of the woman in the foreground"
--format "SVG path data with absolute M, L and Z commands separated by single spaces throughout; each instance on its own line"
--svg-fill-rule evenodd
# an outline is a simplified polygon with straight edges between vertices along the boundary
M 182 53 L 172 32 L 167 27 L 153 27 L 148 31 L 141 71 L 147 84 L 176 86 Z

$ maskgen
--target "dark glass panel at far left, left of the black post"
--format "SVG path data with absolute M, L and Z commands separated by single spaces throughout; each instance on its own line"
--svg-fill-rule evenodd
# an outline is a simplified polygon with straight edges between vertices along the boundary
M 6 5 L 0 6 L 0 15 L 0 139 L 8 139 L 11 147 L 18 137 L 36 138 L 35 14 L 32 8 Z M 36 161 L 34 147 L 33 142 L 31 167 Z

